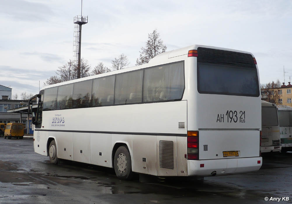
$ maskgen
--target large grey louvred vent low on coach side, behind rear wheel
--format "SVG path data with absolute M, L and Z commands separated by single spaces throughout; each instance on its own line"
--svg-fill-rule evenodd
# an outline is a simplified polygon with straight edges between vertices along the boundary
M 159 167 L 174 168 L 173 163 L 173 141 L 159 141 Z

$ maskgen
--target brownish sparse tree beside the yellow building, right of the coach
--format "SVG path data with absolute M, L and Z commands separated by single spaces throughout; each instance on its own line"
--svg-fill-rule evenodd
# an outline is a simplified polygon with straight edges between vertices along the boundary
M 262 100 L 269 103 L 279 104 L 278 84 L 277 82 L 269 82 L 266 85 L 261 85 Z

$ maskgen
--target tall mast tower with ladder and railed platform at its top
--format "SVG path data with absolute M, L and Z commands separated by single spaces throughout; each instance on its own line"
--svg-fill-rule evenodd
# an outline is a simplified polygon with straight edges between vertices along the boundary
M 88 21 L 88 16 L 82 16 L 82 0 L 81 0 L 81 16 L 74 17 L 74 38 L 73 38 L 73 66 L 77 67 L 77 79 L 80 78 L 80 62 L 81 62 L 81 28 Z

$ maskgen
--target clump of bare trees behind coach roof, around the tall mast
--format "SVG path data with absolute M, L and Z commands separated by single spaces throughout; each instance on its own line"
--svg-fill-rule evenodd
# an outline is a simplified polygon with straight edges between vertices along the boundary
M 90 65 L 86 59 L 81 59 L 80 62 L 80 77 L 90 76 Z M 56 71 L 57 76 L 51 76 L 44 82 L 44 85 L 51 85 L 60 82 L 70 81 L 77 79 L 77 67 L 74 66 L 73 61 L 70 59 L 67 64 L 58 67 Z

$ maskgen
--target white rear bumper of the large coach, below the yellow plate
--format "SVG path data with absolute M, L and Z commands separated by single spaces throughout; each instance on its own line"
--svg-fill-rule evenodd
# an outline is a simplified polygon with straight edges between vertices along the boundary
M 188 160 L 188 176 L 230 175 L 257 171 L 262 166 L 262 157 Z

